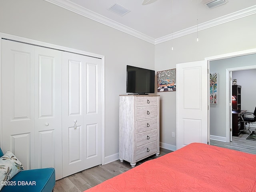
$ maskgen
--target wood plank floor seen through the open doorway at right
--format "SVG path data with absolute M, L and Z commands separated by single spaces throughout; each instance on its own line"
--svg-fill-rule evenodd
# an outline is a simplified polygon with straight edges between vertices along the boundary
M 256 154 L 256 141 L 246 140 L 248 136 L 249 136 L 248 131 L 244 131 L 238 137 L 233 136 L 232 142 L 221 142 L 216 140 L 210 140 L 210 145 L 234 149 L 237 151 L 242 151 L 242 152 L 251 153 L 251 154 Z

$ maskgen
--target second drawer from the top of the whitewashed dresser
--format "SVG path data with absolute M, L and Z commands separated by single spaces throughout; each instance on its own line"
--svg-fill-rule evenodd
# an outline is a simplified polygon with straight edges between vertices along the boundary
M 136 108 L 136 120 L 152 118 L 156 116 L 157 116 L 157 106 Z

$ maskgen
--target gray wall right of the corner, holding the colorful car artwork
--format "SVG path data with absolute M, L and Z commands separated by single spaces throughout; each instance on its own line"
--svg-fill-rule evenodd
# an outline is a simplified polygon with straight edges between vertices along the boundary
M 179 63 L 256 48 L 255 20 L 256 14 L 199 31 L 198 42 L 194 33 L 157 44 L 155 70 L 168 70 L 176 68 L 176 64 Z M 171 50 L 172 47 L 174 50 Z M 172 138 L 172 132 L 176 132 L 176 94 L 175 92 L 158 94 L 161 99 L 160 142 L 167 144 L 166 146 L 170 148 L 176 147 L 176 137 Z M 225 116 L 225 109 L 219 112 Z M 215 133 L 211 132 L 211 134 Z M 226 136 L 225 130 L 220 131 L 218 135 Z

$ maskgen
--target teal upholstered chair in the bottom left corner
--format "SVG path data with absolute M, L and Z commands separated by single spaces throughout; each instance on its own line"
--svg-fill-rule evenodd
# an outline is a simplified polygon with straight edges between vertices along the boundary
M 0 157 L 3 155 L 0 148 Z M 55 169 L 42 168 L 22 170 L 9 181 L 16 185 L 6 185 L 1 189 L 1 192 L 53 192 L 55 185 Z

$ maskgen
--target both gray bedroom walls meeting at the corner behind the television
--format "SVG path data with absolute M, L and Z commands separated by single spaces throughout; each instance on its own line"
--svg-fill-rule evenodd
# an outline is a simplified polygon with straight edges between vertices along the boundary
M 127 64 L 162 71 L 256 48 L 255 20 L 256 14 L 199 31 L 199 42 L 194 33 L 153 45 L 44 0 L 0 0 L 0 32 L 106 56 L 106 156 L 118 153 L 118 95 L 126 93 Z M 175 148 L 176 92 L 158 94 L 160 142 Z

